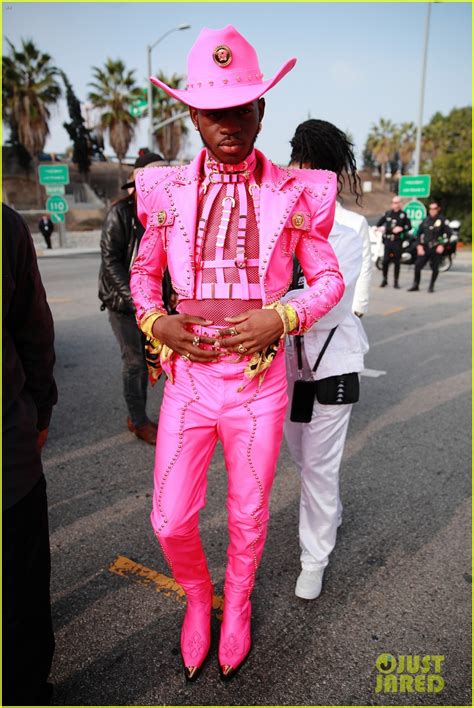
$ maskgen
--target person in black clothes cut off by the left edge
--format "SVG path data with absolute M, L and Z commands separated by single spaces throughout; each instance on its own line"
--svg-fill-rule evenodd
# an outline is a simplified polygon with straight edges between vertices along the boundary
M 57 399 L 54 326 L 23 219 L 2 206 L 3 703 L 49 705 L 54 651 L 46 481 L 38 433 Z

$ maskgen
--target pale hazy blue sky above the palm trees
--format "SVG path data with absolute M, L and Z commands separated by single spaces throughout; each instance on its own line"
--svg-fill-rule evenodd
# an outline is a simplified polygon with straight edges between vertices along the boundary
M 426 3 L 2 3 L 3 40 L 31 38 L 68 75 L 86 101 L 91 67 L 120 58 L 147 85 L 146 46 L 189 23 L 153 50 L 153 71 L 186 75 L 186 56 L 202 27 L 233 24 L 257 49 L 264 79 L 298 58 L 293 71 L 266 94 L 258 147 L 285 164 L 296 126 L 308 117 L 349 131 L 360 157 L 381 117 L 418 119 Z M 3 43 L 3 54 L 8 45 Z M 471 4 L 432 4 L 424 122 L 471 104 Z M 69 138 L 65 101 L 52 109 L 47 151 L 62 152 Z M 139 121 L 130 156 L 146 146 Z M 4 131 L 4 141 L 8 131 Z M 190 130 L 186 153 L 201 147 Z M 107 148 L 107 143 L 106 143 Z M 112 151 L 106 149 L 107 153 Z

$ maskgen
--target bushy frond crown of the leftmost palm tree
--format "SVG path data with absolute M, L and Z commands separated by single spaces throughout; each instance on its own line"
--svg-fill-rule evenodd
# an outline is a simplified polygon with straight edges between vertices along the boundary
M 20 50 L 6 41 L 10 56 L 2 57 L 2 118 L 11 128 L 12 143 L 36 157 L 49 135 L 49 106 L 61 95 L 59 71 L 31 40 L 22 39 Z

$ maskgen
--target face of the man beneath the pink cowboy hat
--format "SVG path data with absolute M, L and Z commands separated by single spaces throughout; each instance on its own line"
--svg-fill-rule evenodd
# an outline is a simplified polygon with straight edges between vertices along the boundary
M 229 165 L 242 162 L 252 152 L 264 111 L 263 98 L 233 108 L 189 109 L 209 153 Z

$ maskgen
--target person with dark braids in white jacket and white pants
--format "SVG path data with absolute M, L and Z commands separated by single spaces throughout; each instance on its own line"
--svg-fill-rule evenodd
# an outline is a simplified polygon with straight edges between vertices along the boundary
M 346 183 L 357 203 L 361 198 L 353 146 L 336 126 L 308 120 L 298 126 L 291 141 L 291 164 L 308 169 L 328 169 L 338 176 L 339 192 Z M 316 380 L 347 373 L 360 373 L 369 349 L 360 318 L 367 312 L 372 269 L 369 228 L 366 219 L 337 204 L 329 241 L 336 253 L 346 290 L 342 300 L 322 317 L 303 338 L 303 376 Z M 294 285 L 305 287 L 298 274 Z M 286 298 L 295 297 L 291 290 Z M 312 368 L 337 326 L 316 372 Z M 287 377 L 291 400 L 298 376 L 296 342 L 288 338 Z M 309 423 L 285 421 L 285 438 L 301 475 L 299 538 L 301 573 L 296 582 L 297 597 L 312 600 L 319 596 L 324 570 L 342 522 L 339 496 L 341 465 L 352 404 L 323 405 L 316 399 Z

